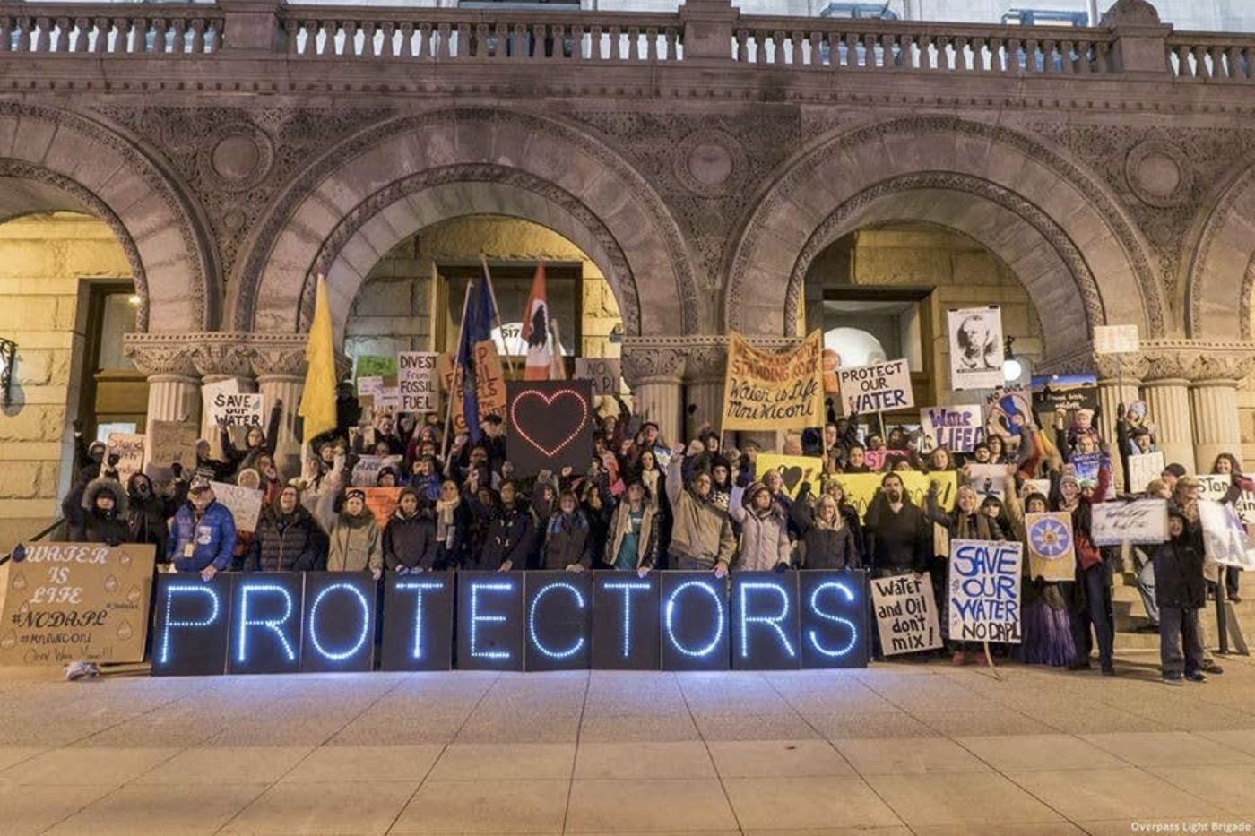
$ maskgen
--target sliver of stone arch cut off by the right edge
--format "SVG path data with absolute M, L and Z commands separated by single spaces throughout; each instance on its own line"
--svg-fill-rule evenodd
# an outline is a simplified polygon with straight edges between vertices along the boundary
M 1255 166 L 1234 177 L 1205 212 L 1185 281 L 1195 339 L 1250 340 L 1255 287 Z

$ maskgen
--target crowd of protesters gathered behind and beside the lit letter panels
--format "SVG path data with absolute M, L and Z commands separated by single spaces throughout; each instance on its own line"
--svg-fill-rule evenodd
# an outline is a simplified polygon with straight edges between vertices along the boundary
M 822 476 L 791 492 L 778 471 L 758 468 L 763 451 L 753 442 L 724 447 L 719 434 L 703 427 L 693 441 L 673 444 L 658 424 L 634 417 L 622 400 L 616 405 L 600 418 L 586 468 L 530 478 L 516 477 L 497 415 L 484 417 L 476 439 L 461 434 L 447 447 L 434 415 L 379 415 L 312 439 L 300 472 L 281 473 L 275 446 L 284 407 L 276 403 L 269 427 L 251 428 L 242 448 L 223 429 L 220 458 L 202 439 L 195 467 L 176 466 L 173 478 L 159 486 L 143 473 L 120 485 L 117 459 L 99 442 L 84 446 L 77 433 L 79 477 L 64 512 L 77 541 L 152 544 L 168 570 L 206 580 L 221 571 L 299 570 L 369 571 L 375 579 L 459 569 L 600 569 L 641 576 L 673 569 L 719 577 L 789 569 L 866 569 L 873 577 L 930 572 L 945 633 L 948 557 L 937 530 L 949 539 L 1023 542 L 1025 513 L 1059 511 L 1072 518 L 1076 576 L 1033 577 L 1024 560 L 1023 643 L 1014 655 L 1081 670 L 1091 667 L 1097 649 L 1102 673 L 1114 674 L 1111 590 L 1123 557 L 1119 547 L 1094 545 L 1092 508 L 1131 496 L 1163 497 L 1171 539 L 1132 555 L 1150 616 L 1146 629 L 1161 634 L 1166 682 L 1201 682 L 1220 673 L 1199 618 L 1209 595 L 1200 482 L 1171 463 L 1150 485 L 1111 491 L 1112 451 L 1089 410 L 1060 410 L 1045 429 L 1003 424 L 963 453 L 926 449 L 921 436 L 905 427 L 885 432 L 884 422 L 873 419 L 878 432 L 872 432 L 857 415 L 833 419 L 784 444 L 786 454 L 823 462 Z M 1121 413 L 1117 452 L 1152 452 L 1145 408 L 1122 407 Z M 1073 459 L 1092 461 L 1096 453 L 1097 476 L 1082 478 Z M 356 459 L 368 454 L 398 462 L 375 476 L 376 486 L 400 488 L 385 525 L 368 508 L 363 487 L 351 482 Z M 1003 466 L 1001 496 L 973 483 L 973 463 Z M 930 474 L 922 501 L 912 498 L 904 471 Z M 1214 471 L 1232 477 L 1227 501 L 1255 487 L 1232 456 L 1221 456 Z M 880 473 L 878 488 L 858 510 L 842 480 L 872 472 Z M 939 496 L 943 472 L 954 472 L 958 483 L 951 510 Z M 215 501 L 215 481 L 262 491 L 255 531 L 236 530 L 231 512 Z M 1225 581 L 1229 598 L 1240 600 L 1237 572 Z M 991 663 L 979 645 L 954 641 L 944 653 L 955 664 Z M 94 673 L 90 665 L 78 675 Z

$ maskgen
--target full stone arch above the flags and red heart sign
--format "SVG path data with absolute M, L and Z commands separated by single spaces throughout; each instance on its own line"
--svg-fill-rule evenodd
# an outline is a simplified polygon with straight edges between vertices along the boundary
M 338 330 L 370 267 L 423 226 L 471 213 L 547 226 L 604 270 L 628 334 L 693 331 L 679 228 L 645 178 L 592 137 L 531 114 L 448 109 L 330 149 L 277 201 L 232 280 L 237 330 L 299 331 L 326 270 Z

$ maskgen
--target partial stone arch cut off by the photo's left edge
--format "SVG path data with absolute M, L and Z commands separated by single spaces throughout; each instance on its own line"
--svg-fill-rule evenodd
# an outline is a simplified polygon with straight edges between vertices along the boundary
M 166 172 L 108 127 L 0 102 L 0 220 L 75 211 L 113 230 L 131 264 L 141 331 L 213 328 L 212 256 Z

